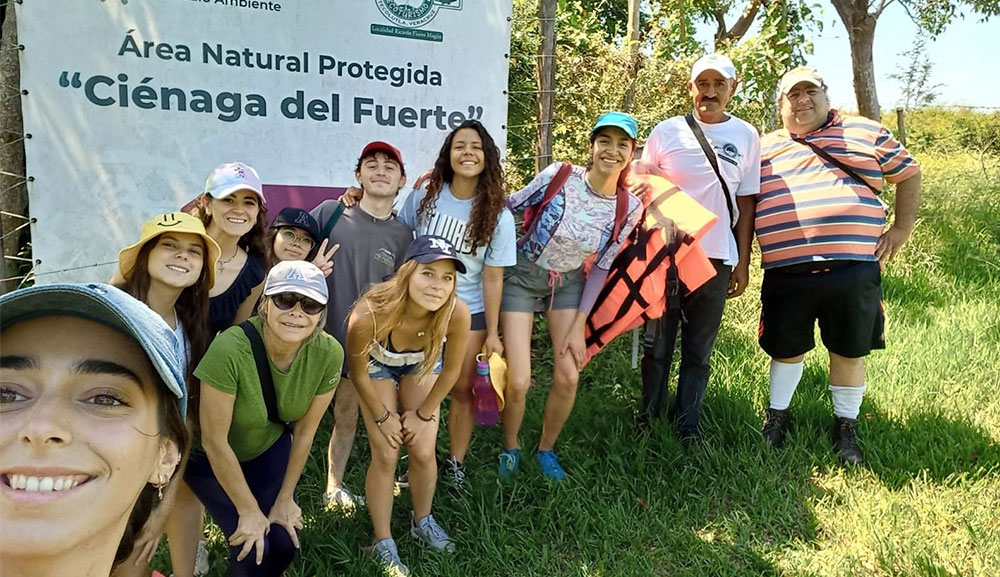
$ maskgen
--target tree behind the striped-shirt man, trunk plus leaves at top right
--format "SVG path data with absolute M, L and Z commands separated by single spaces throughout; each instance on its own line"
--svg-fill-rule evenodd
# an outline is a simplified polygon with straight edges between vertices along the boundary
M 875 63 L 872 45 L 875 24 L 893 2 L 898 1 L 910 18 L 932 37 L 944 31 L 960 7 L 982 15 L 985 19 L 1000 14 L 1000 0 L 830 0 L 837 10 L 851 44 L 851 65 L 854 72 L 854 96 L 862 116 L 881 120 L 878 93 L 875 89 Z

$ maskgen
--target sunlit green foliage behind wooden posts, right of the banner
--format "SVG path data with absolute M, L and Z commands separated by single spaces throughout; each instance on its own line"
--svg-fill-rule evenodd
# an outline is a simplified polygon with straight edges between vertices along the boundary
M 690 110 L 688 75 L 694 61 L 706 52 L 706 47 L 694 40 L 693 19 L 707 17 L 711 10 L 722 5 L 703 2 L 685 7 L 683 1 L 687 0 L 643 3 L 642 63 L 635 78 L 635 104 L 631 111 L 639 120 L 640 138 L 658 122 Z M 601 113 L 622 106 L 631 70 L 628 46 L 622 41 L 625 6 L 624 1 L 561 0 L 559 3 L 553 110 L 556 160 L 584 163 L 590 126 Z M 517 190 L 536 170 L 536 78 L 540 46 L 537 7 L 537 0 L 514 1 L 507 151 L 509 190 Z M 814 17 L 816 10 L 809 0 L 766 3 L 758 13 L 756 33 L 735 45 L 716 47 L 733 58 L 740 73 L 741 87 L 731 104 L 734 114 L 761 130 L 774 127 L 773 103 L 778 80 L 811 51 L 805 34 L 821 27 Z

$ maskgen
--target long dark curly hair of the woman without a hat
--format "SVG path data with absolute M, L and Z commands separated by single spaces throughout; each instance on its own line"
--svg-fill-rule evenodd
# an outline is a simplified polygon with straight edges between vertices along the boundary
M 444 183 L 451 184 L 455 177 L 455 171 L 451 167 L 451 145 L 458 131 L 465 128 L 475 130 L 483 140 L 483 157 L 486 164 L 476 180 L 476 200 L 472 203 L 469 224 L 465 229 L 465 242 L 471 246 L 472 252 L 475 252 L 479 247 L 488 245 L 493 238 L 493 231 L 506 205 L 507 196 L 503 169 L 500 167 L 500 149 L 497 148 L 486 127 L 478 120 L 466 120 L 444 139 L 427 184 L 427 195 L 417 207 L 417 220 L 429 219 L 434 214 L 434 205 Z M 457 248 L 462 250 L 463 247 Z

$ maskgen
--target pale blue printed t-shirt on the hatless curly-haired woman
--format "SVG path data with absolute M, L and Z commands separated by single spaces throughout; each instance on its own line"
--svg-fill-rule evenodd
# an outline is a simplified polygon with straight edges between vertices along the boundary
M 426 190 L 415 190 L 403 203 L 396 218 L 412 228 L 417 235 L 436 234 L 448 239 L 458 250 L 458 258 L 465 264 L 465 274 L 458 275 L 456 289 L 458 297 L 469 306 L 469 312 L 478 314 L 486 307 L 483 303 L 483 266 L 507 267 L 517 264 L 517 234 L 514 230 L 514 216 L 504 208 L 497 219 L 493 236 L 488 246 L 480 246 L 472 252 L 465 236 L 475 198 L 461 200 L 451 193 L 451 187 L 444 183 L 441 193 L 434 201 L 433 213 L 429 218 L 418 218 L 420 201 L 427 196 Z M 426 215 L 425 215 L 426 216 Z

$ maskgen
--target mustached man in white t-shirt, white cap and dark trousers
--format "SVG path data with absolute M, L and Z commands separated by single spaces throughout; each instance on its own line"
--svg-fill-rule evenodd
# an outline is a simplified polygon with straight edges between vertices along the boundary
M 721 54 L 700 58 L 688 82 L 694 110 L 686 117 L 675 116 L 656 125 L 639 161 L 647 170 L 661 172 L 719 217 L 701 239 L 715 266 L 715 278 L 693 292 L 682 283 L 680 314 L 665 315 L 646 326 L 640 423 L 660 416 L 680 328 L 681 366 L 670 420 L 685 445 L 699 438 L 709 359 L 726 299 L 741 295 L 750 276 L 753 199 L 760 191 L 760 136 L 753 126 L 726 113 L 737 85 L 736 68 L 729 58 Z M 699 131 L 718 170 L 700 143 Z

